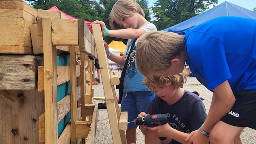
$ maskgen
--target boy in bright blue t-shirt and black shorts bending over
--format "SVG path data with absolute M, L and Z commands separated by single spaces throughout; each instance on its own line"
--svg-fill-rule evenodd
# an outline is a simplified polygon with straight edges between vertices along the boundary
M 188 144 L 241 144 L 245 127 L 256 129 L 256 20 L 225 16 L 185 32 L 149 32 L 137 43 L 145 76 L 174 75 L 184 64 L 213 91 L 204 124 Z M 156 60 L 157 59 L 157 60 Z

